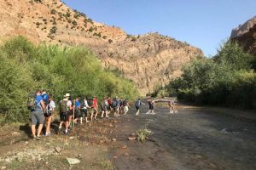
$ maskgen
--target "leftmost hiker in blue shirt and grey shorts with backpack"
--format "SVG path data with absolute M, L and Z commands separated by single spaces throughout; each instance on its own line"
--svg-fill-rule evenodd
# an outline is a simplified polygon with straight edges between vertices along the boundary
M 44 111 L 45 105 L 44 105 L 44 100 L 41 96 L 41 90 L 38 90 L 36 92 L 36 96 L 34 99 L 34 103 L 32 104 L 31 107 L 31 121 L 32 121 L 32 137 L 33 139 L 41 139 L 41 131 L 43 128 L 43 123 L 44 123 Z M 36 125 L 39 123 L 38 126 L 38 133 L 36 135 Z

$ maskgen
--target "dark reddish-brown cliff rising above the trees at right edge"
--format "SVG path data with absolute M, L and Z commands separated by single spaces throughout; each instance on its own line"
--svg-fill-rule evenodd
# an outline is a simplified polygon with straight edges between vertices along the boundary
M 239 42 L 247 52 L 256 56 L 256 16 L 234 29 L 230 38 Z

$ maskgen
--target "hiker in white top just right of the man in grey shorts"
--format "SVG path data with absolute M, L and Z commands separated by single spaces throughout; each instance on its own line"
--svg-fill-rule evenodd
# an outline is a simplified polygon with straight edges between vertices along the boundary
M 44 113 L 45 116 L 45 121 L 46 121 L 46 131 L 45 131 L 45 136 L 50 136 L 50 124 L 51 124 L 51 120 L 52 117 L 54 115 L 55 112 L 55 102 L 53 100 L 53 97 L 50 96 L 49 97 L 49 104 L 47 105 L 48 109 L 47 112 Z

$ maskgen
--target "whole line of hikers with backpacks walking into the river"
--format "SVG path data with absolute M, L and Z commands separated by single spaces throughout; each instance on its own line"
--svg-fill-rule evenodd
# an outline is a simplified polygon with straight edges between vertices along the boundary
M 145 105 L 141 99 L 137 99 L 135 102 L 136 116 L 139 115 L 140 108 Z M 149 111 L 146 114 L 154 115 L 155 102 L 154 99 L 148 100 Z M 170 113 L 175 112 L 175 103 L 171 99 L 168 101 Z M 50 136 L 50 125 L 55 113 L 55 102 L 53 95 L 47 94 L 46 90 L 38 90 L 35 96 L 30 96 L 27 100 L 28 109 L 32 111 L 32 137 L 33 139 L 40 139 L 44 122 L 46 124 L 46 130 L 44 136 Z M 117 96 L 113 99 L 110 97 L 104 97 L 99 103 L 96 96 L 92 99 L 82 97 L 82 99 L 72 99 L 70 94 L 65 94 L 61 102 L 59 103 L 60 110 L 60 124 L 58 132 L 61 132 L 62 126 L 64 125 L 64 134 L 67 134 L 71 128 L 76 126 L 78 123 L 89 122 L 88 116 L 90 115 L 90 121 L 96 120 L 98 114 L 101 117 L 108 118 L 109 114 L 113 112 L 113 116 L 126 115 L 129 111 L 130 105 L 128 99 L 119 99 Z M 101 111 L 101 112 L 100 112 Z M 38 126 L 38 132 L 36 132 L 36 125 Z

